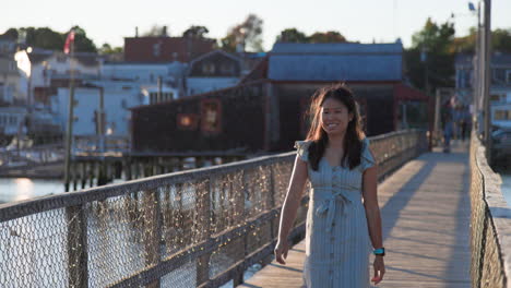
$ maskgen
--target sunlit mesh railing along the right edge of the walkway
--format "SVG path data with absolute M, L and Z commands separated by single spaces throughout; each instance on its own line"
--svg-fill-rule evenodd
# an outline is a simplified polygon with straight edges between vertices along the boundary
M 510 287 L 511 209 L 500 188 L 500 176 L 486 158 L 475 132 L 471 141 L 472 287 Z

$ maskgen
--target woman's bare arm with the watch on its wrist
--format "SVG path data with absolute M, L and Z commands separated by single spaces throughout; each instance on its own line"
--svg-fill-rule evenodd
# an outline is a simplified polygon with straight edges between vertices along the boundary
M 372 166 L 364 171 L 363 175 L 363 196 L 364 207 L 366 208 L 367 226 L 369 229 L 369 236 L 371 238 L 372 247 L 375 249 L 383 247 L 383 239 L 381 233 L 381 216 L 380 207 L 378 206 L 378 169 L 377 166 Z M 383 256 L 375 256 L 375 263 L 372 264 L 375 269 L 373 278 L 371 279 L 375 285 L 379 284 L 383 279 L 385 274 L 385 264 Z

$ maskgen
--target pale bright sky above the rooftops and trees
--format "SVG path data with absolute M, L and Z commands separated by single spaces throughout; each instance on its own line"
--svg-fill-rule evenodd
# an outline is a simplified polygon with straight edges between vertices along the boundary
M 491 2 L 491 28 L 511 28 L 511 0 Z M 263 20 L 266 50 L 281 31 L 290 27 L 307 35 L 337 31 L 347 40 L 360 43 L 401 38 L 409 47 L 412 35 L 428 17 L 453 22 L 456 36 L 466 35 L 477 22 L 463 0 L 16 0 L 2 1 L 0 7 L 0 33 L 27 26 L 66 32 L 80 25 L 98 47 L 122 46 L 123 37 L 133 37 L 136 26 L 142 34 L 155 24 L 167 25 L 170 36 L 202 25 L 209 28 L 209 37 L 222 38 L 250 13 Z

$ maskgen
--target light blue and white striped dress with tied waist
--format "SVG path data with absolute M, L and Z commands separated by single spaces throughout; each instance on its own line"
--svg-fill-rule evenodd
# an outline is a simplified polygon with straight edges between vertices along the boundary
M 310 143 L 295 143 L 305 161 Z M 361 164 L 353 170 L 332 167 L 324 157 L 318 171 L 307 165 L 311 183 L 304 263 L 307 288 L 370 287 L 372 247 L 361 203 L 361 182 L 364 170 L 373 165 L 367 139 L 363 141 Z

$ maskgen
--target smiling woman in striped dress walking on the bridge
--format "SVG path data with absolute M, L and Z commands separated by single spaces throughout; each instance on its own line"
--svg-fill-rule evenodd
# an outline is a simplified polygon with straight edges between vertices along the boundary
M 369 253 L 376 254 L 375 284 L 384 274 L 384 248 L 377 199 L 377 168 L 361 131 L 352 92 L 343 84 L 320 88 L 311 105 L 306 141 L 284 201 L 276 261 L 285 264 L 287 236 L 307 179 L 311 183 L 306 225 L 304 283 L 307 288 L 370 287 Z

